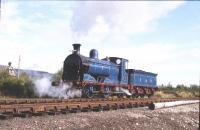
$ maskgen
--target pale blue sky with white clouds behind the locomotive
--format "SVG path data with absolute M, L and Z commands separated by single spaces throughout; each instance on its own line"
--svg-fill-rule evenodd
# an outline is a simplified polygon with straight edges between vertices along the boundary
M 72 44 L 129 68 L 158 73 L 158 84 L 198 84 L 200 2 L 2 1 L 0 64 L 56 72 Z

